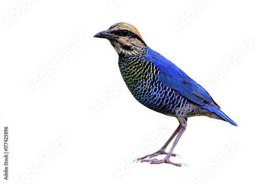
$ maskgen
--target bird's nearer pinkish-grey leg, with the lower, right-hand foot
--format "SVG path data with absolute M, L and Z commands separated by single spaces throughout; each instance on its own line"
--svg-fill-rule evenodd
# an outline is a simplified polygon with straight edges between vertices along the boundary
M 173 150 L 174 150 L 176 144 L 178 143 L 180 137 L 182 136 L 182 134 L 183 134 L 183 132 L 185 131 L 186 126 L 187 126 L 187 122 L 186 122 L 186 120 L 185 120 L 184 117 L 182 117 L 182 116 L 177 116 L 177 119 L 179 120 L 180 125 L 178 126 L 178 128 L 177 128 L 176 130 L 178 130 L 179 133 L 178 133 L 178 135 L 177 135 L 177 137 L 176 137 L 176 139 L 175 139 L 175 141 L 174 141 L 172 147 L 170 148 L 169 152 L 167 153 L 166 157 L 165 157 L 164 159 L 162 159 L 162 160 L 157 160 L 157 159 L 142 159 L 142 160 L 138 160 L 139 162 L 148 162 L 148 163 L 150 163 L 150 164 L 162 164 L 162 163 L 167 163 L 167 164 L 173 164 L 173 165 L 179 166 L 179 167 L 182 166 L 182 164 L 177 164 L 177 163 L 174 163 L 174 162 L 169 161 L 170 156 L 172 156 L 172 154 L 173 154 Z M 175 130 L 174 134 L 176 133 L 176 130 Z M 174 135 L 174 134 L 173 134 L 173 135 Z M 177 133 L 176 133 L 176 134 L 177 134 Z M 172 138 L 173 135 L 172 135 L 170 138 Z M 174 137 L 175 137 L 175 136 L 174 136 Z M 169 140 L 168 140 L 168 141 L 169 141 Z M 168 145 L 168 141 L 166 142 L 167 145 Z M 166 144 L 166 143 L 165 143 L 165 144 Z M 166 146 L 167 146 L 167 145 L 166 145 Z M 165 145 L 164 145 L 164 146 L 165 146 Z M 163 146 L 163 147 L 164 147 L 164 146 Z M 162 147 L 162 148 L 163 148 L 163 147 Z M 162 148 L 161 148 L 161 149 L 162 149 Z M 165 147 L 165 148 L 166 148 L 166 147 Z M 160 150 L 161 150 L 161 149 L 160 149 Z M 153 154 L 154 154 L 154 153 L 153 153 Z

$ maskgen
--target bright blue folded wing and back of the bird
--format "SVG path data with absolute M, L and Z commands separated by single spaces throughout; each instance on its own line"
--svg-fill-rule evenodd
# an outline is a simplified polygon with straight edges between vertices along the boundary
M 148 48 L 148 54 L 144 56 L 144 59 L 154 63 L 159 68 L 161 73 L 157 77 L 165 86 L 176 90 L 179 94 L 199 105 L 220 109 L 203 87 L 158 52 Z

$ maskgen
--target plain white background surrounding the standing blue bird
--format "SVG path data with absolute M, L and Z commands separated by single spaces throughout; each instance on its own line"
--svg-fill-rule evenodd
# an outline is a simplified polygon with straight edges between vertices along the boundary
M 24 1 L 0 4 L 1 183 L 255 181 L 256 44 L 243 51 L 246 40 L 256 42 L 253 1 L 205 0 L 197 13 L 191 7 L 199 1 Z M 19 11 L 15 19 L 12 9 Z M 184 16 L 189 19 L 177 29 L 175 22 L 184 23 Z M 174 151 L 182 159 L 171 158 L 188 167 L 130 162 L 139 151 L 157 151 L 178 121 L 137 102 L 122 81 L 109 41 L 93 38 L 121 21 L 133 24 L 148 46 L 200 85 L 207 88 L 211 81 L 207 91 L 239 125 L 189 118 Z M 74 47 L 75 35 L 86 39 Z M 57 54 L 67 47 L 72 51 L 61 61 Z M 228 62 L 238 51 L 242 57 Z M 58 67 L 30 92 L 27 84 L 53 60 Z M 225 73 L 217 78 L 214 73 L 223 66 Z M 116 85 L 121 88 L 114 90 Z M 9 181 L 3 179 L 5 125 Z M 59 144 L 61 139 L 66 143 Z

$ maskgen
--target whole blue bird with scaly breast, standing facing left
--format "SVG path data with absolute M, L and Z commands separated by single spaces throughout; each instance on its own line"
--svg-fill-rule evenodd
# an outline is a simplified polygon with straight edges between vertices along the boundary
M 115 23 L 94 37 L 110 41 L 119 56 L 118 66 L 122 78 L 136 100 L 153 111 L 176 117 L 179 121 L 175 132 L 158 151 L 138 158 L 137 162 L 166 163 L 179 167 L 185 165 L 170 161 L 170 157 L 177 155 L 173 151 L 186 129 L 189 117 L 207 116 L 238 126 L 220 110 L 220 106 L 202 86 L 148 47 L 133 25 Z M 166 152 L 166 147 L 174 138 L 172 147 Z M 164 159 L 156 159 L 161 154 L 166 155 Z

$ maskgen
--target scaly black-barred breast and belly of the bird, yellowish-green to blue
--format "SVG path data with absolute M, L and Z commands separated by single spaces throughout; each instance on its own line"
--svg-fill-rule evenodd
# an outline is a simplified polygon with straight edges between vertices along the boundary
M 144 106 L 168 115 L 185 114 L 182 108 L 187 99 L 158 80 L 160 71 L 153 63 L 140 57 L 119 57 L 118 65 L 126 86 Z

